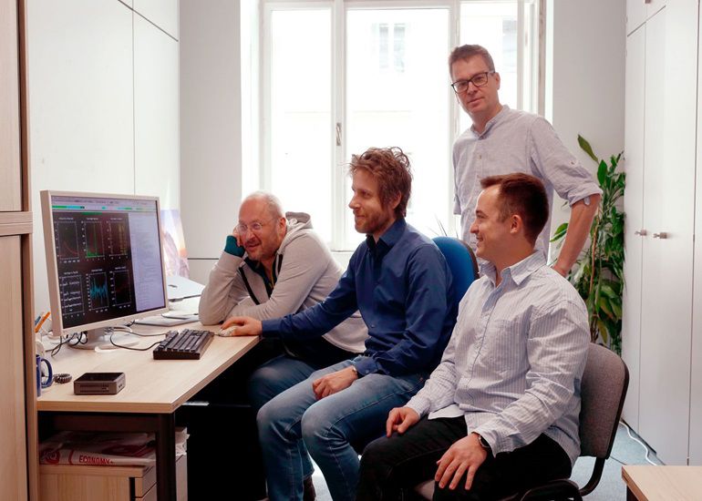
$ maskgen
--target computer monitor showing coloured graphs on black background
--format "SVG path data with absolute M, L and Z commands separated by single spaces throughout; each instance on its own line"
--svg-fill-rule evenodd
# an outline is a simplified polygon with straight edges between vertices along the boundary
M 157 197 L 41 192 L 54 333 L 86 332 L 168 312 Z

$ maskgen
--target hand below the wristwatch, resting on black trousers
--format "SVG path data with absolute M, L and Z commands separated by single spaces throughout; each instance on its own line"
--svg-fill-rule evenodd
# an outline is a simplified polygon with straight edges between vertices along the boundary
M 480 445 L 480 438 L 476 434 L 470 434 L 461 438 L 449 447 L 449 450 L 437 461 L 437 474 L 434 481 L 439 482 L 442 489 L 449 484 L 449 489 L 453 490 L 459 485 L 460 477 L 466 475 L 466 490 L 473 484 L 473 477 L 480 465 L 488 457 L 488 451 Z

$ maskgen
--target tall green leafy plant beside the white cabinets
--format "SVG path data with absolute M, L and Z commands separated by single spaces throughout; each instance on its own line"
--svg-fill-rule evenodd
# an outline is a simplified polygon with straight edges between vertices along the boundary
M 601 342 L 615 353 L 622 352 L 622 293 L 624 291 L 624 196 L 625 172 L 617 171 L 622 154 L 609 164 L 598 159 L 590 143 L 578 135 L 578 144 L 598 164 L 597 181 L 602 189 L 599 210 L 590 229 L 590 243 L 569 273 L 568 280 L 580 293 L 590 320 L 593 343 Z M 564 222 L 553 233 L 552 242 L 563 244 L 568 230 Z

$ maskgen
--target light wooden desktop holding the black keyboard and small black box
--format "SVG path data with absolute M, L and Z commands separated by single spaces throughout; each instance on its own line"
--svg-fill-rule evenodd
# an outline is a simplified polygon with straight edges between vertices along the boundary
M 165 332 L 168 328 L 135 325 L 137 332 Z M 219 326 L 201 323 L 179 325 L 172 329 L 207 329 L 217 332 Z M 147 347 L 163 337 L 138 338 L 135 347 Z M 115 395 L 73 394 L 73 381 L 54 383 L 42 390 L 36 400 L 39 411 L 100 413 L 174 412 L 193 394 L 222 373 L 227 367 L 258 343 L 258 337 L 214 336 L 200 360 L 154 360 L 152 350 L 135 352 L 116 349 L 103 352 L 77 350 L 64 346 L 55 357 L 46 353 L 54 373 L 70 373 L 75 380 L 83 373 L 125 373 L 126 385 Z

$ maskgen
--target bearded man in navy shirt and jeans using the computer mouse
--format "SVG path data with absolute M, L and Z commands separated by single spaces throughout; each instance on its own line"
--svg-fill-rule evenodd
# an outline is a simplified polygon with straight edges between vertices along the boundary
M 313 373 L 257 415 L 268 496 L 302 499 L 309 455 L 336 500 L 353 499 L 362 447 L 383 435 L 387 413 L 407 403 L 437 366 L 456 321 L 449 267 L 436 245 L 405 222 L 409 160 L 400 148 L 354 155 L 350 174 L 356 231 L 366 233 L 324 302 L 281 319 L 235 317 L 236 335 L 305 341 L 359 310 L 366 351 Z M 309 453 L 309 455 L 307 454 Z

